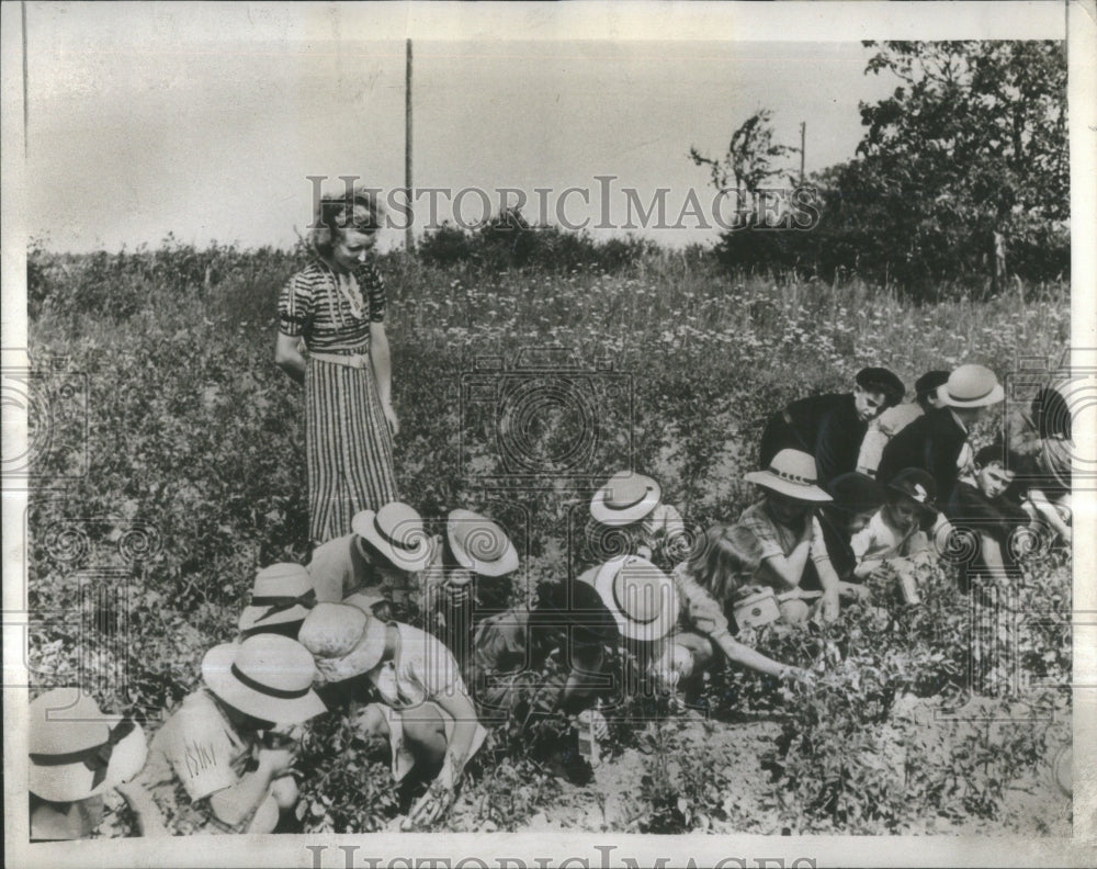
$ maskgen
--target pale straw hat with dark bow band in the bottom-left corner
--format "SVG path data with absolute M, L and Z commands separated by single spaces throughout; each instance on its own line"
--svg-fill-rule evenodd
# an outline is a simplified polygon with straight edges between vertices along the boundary
M 148 753 L 145 731 L 106 715 L 79 688 L 31 701 L 27 789 L 49 802 L 95 797 L 136 776 Z

